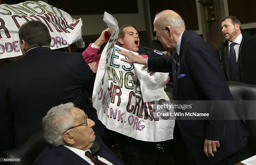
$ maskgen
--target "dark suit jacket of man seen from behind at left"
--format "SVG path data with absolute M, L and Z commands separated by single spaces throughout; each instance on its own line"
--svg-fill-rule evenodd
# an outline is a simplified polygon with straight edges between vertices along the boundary
M 0 150 L 7 150 L 14 132 L 22 144 L 54 106 L 73 102 L 87 113 L 83 88 L 92 93 L 95 73 L 80 53 L 38 47 L 1 67 L 0 79 Z

